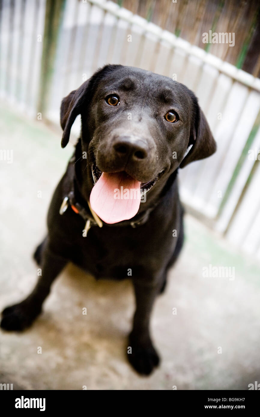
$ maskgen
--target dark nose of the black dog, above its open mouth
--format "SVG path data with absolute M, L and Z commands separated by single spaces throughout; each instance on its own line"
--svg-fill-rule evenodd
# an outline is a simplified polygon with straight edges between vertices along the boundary
M 113 145 L 117 156 L 127 161 L 141 161 L 147 158 L 149 146 L 146 141 L 135 136 L 123 136 L 118 138 Z

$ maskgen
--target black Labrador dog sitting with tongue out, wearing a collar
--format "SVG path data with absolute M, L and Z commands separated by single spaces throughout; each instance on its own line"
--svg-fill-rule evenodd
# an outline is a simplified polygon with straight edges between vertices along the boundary
M 216 143 L 187 87 L 139 68 L 107 65 L 62 100 L 63 148 L 79 114 L 81 138 L 34 255 L 42 276 L 32 294 L 3 311 L 1 327 L 30 326 L 68 261 L 96 278 L 130 275 L 136 312 L 128 358 L 149 374 L 159 363 L 151 309 L 183 243 L 177 170 L 212 155 Z

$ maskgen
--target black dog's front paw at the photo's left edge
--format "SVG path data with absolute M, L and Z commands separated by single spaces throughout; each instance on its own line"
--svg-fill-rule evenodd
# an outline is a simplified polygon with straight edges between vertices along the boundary
M 2 311 L 2 321 L 0 327 L 9 331 L 21 331 L 29 327 L 33 320 L 40 314 L 40 308 L 32 309 L 26 303 L 21 302 Z

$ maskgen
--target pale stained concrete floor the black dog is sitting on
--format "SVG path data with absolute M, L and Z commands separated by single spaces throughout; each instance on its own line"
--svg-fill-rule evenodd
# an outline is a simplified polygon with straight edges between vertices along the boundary
M 0 161 L 2 310 L 36 281 L 31 255 L 45 234 L 51 193 L 72 148 L 62 150 L 61 136 L 42 121 L 0 110 L 0 148 L 13 149 L 12 164 Z M 150 377 L 137 375 L 125 358 L 131 282 L 97 282 L 69 265 L 33 327 L 0 332 L 0 382 L 14 389 L 148 390 L 248 389 L 260 382 L 260 268 L 194 218 L 186 216 L 185 224 L 184 250 L 152 316 L 162 362 Z M 235 266 L 235 280 L 203 278 L 209 264 Z

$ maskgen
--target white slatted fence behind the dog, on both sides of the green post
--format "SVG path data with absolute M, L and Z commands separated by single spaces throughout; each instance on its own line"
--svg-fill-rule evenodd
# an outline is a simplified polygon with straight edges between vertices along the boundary
M 14 2 L 13 22 L 10 3 L 4 1 L 2 14 L 1 95 L 36 115 L 42 43 L 37 45 L 33 37 L 43 35 L 45 0 L 24 2 L 23 23 L 22 2 Z M 19 62 L 23 70 L 17 72 Z M 218 150 L 180 172 L 182 200 L 212 219 L 215 229 L 232 243 L 260 259 L 260 80 L 115 3 L 67 0 L 43 117 L 59 123 L 61 99 L 106 63 L 174 77 L 196 93 Z

